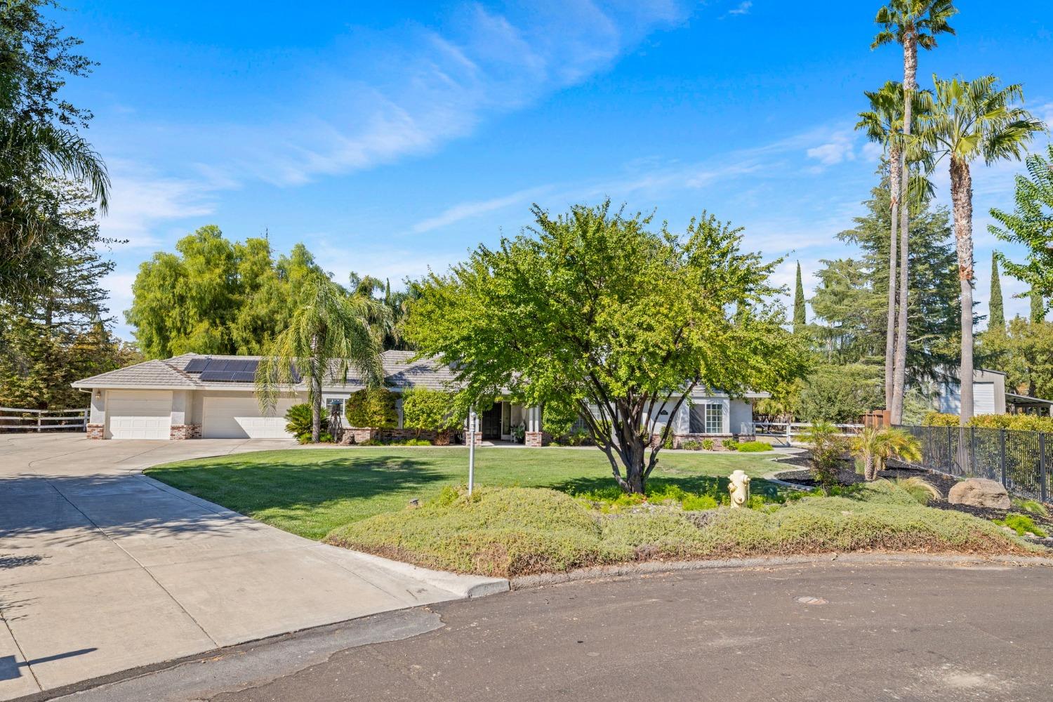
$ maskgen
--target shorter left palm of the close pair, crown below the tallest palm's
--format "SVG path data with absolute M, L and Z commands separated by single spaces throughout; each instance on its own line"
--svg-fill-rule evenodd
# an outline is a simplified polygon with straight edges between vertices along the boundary
M 891 409 L 895 365 L 893 354 L 896 340 L 896 232 L 899 224 L 899 196 L 902 189 L 900 187 L 902 172 L 899 165 L 901 158 L 903 158 L 903 140 L 900 136 L 903 120 L 903 91 L 900 83 L 890 80 L 878 91 L 863 91 L 863 95 L 870 101 L 870 109 L 859 113 L 859 121 L 855 128 L 866 133 L 867 138 L 872 142 L 881 144 L 889 159 L 890 220 L 892 223 L 889 234 L 889 306 L 885 336 L 885 406 Z M 914 94 L 912 107 L 911 114 L 916 122 L 923 109 L 923 102 L 917 93 Z M 919 156 L 925 158 L 926 154 L 922 152 Z M 907 158 L 917 160 L 913 153 Z M 922 181 L 919 183 L 919 187 L 909 187 L 908 192 L 917 196 L 929 195 L 932 184 L 923 175 L 918 174 L 915 180 L 919 178 Z

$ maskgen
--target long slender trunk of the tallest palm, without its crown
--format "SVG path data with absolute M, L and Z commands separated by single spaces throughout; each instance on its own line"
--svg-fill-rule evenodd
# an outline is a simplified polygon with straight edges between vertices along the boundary
M 903 393 L 907 383 L 907 308 L 909 295 L 908 248 L 910 235 L 910 162 L 907 158 L 908 143 L 913 119 L 914 91 L 917 89 L 917 38 L 908 32 L 903 38 L 903 157 L 900 172 L 899 197 L 899 309 L 896 318 L 896 356 L 892 383 L 892 423 L 901 424 L 903 419 Z

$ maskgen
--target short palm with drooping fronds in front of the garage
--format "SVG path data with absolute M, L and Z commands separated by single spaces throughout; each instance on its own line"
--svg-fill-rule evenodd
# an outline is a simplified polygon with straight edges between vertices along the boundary
M 367 386 L 383 382 L 381 333 L 370 320 L 382 318 L 383 306 L 371 297 L 347 295 L 323 275 L 305 286 L 304 303 L 289 327 L 274 338 L 256 369 L 260 407 L 274 409 L 282 387 L 292 388 L 302 376 L 311 403 L 311 441 L 318 443 L 322 423 L 322 383 L 347 380 L 356 370 Z

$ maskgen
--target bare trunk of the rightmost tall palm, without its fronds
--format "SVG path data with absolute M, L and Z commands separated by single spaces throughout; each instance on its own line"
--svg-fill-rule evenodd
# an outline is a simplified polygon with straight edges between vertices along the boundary
M 969 162 L 951 157 L 951 202 L 961 286 L 961 425 L 973 416 L 973 177 Z

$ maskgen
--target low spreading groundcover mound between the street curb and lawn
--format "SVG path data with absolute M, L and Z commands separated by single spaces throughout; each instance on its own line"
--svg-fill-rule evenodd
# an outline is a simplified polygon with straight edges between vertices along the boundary
M 786 506 L 601 513 L 563 493 L 446 488 L 423 506 L 334 529 L 327 543 L 432 568 L 516 577 L 654 559 L 896 550 L 1034 554 L 970 515 L 919 505 L 887 482 Z

